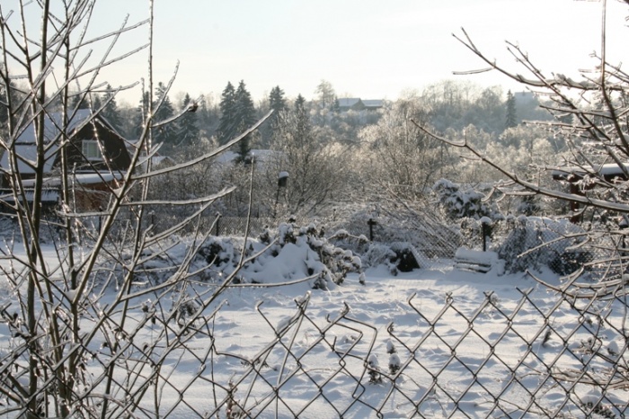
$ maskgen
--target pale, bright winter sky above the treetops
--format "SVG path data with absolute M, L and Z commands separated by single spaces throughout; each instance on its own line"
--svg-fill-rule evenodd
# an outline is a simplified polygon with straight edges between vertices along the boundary
M 14 0 L 3 0 L 6 4 Z M 623 61 L 627 8 L 608 0 L 609 55 Z M 460 28 L 492 58 L 517 68 L 504 40 L 518 42 L 538 67 L 570 74 L 591 67 L 600 49 L 600 8 L 584 0 L 155 0 L 155 82 L 180 62 L 172 98 L 214 94 L 244 80 L 255 101 L 279 85 L 288 95 L 314 97 L 322 79 L 339 96 L 397 98 L 453 71 L 484 67 L 452 37 Z M 93 31 L 109 31 L 147 16 L 145 0 L 106 0 Z M 130 49 L 146 30 L 125 36 Z M 111 67 L 111 85 L 146 76 L 146 53 Z M 518 90 L 497 73 L 466 78 Z M 137 92 L 124 94 L 131 103 Z

